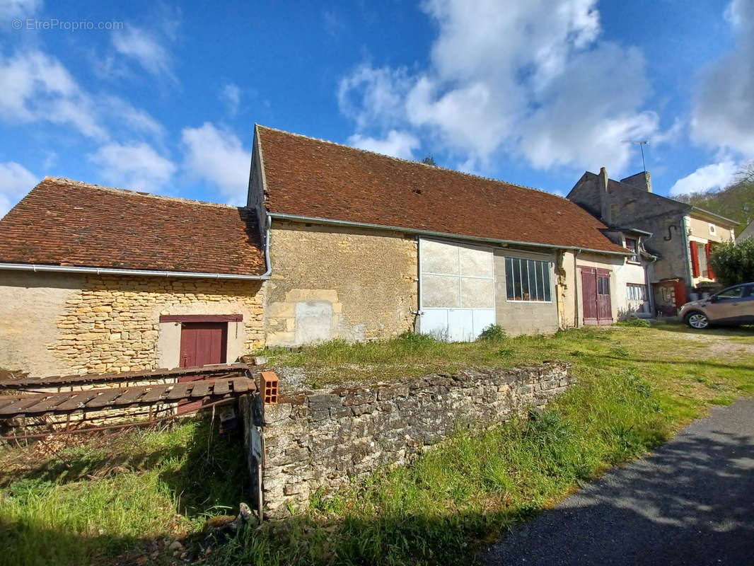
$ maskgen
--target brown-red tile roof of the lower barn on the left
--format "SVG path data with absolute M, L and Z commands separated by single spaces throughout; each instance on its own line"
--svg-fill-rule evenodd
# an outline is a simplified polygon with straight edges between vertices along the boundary
M 0 220 L 0 262 L 260 275 L 245 208 L 44 177 Z

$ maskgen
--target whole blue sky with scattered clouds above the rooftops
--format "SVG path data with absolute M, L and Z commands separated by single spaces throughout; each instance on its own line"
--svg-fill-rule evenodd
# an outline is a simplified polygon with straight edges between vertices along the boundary
M 218 5 L 0 0 L 0 214 L 44 175 L 241 204 L 255 122 L 561 195 L 624 140 L 664 195 L 754 158 L 754 0 Z

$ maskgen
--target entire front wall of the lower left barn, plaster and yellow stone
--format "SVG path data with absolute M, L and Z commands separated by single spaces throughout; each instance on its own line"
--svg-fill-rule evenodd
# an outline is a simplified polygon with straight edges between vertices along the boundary
M 180 324 L 160 315 L 241 314 L 228 361 L 264 345 L 262 282 L 0 270 L 0 368 L 32 376 L 173 368 Z

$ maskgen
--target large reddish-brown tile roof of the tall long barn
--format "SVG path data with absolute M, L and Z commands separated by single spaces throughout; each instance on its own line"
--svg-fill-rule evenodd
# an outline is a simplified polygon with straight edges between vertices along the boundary
M 272 213 L 625 252 L 567 198 L 257 126 Z

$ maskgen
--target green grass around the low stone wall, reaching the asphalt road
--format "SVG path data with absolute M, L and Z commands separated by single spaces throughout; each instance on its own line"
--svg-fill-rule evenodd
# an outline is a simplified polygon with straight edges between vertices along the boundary
M 579 381 L 526 422 L 459 433 L 411 466 L 316 494 L 292 518 L 222 544 L 199 533 L 208 515 L 234 514 L 247 499 L 244 453 L 207 422 L 2 448 L 0 562 L 470 563 L 515 521 L 644 454 L 709 405 L 754 392 L 751 328 L 615 326 L 469 344 L 408 336 L 265 354 L 277 368 L 304 368 L 309 386 L 547 359 L 571 361 Z M 176 538 L 185 560 L 166 548 Z

